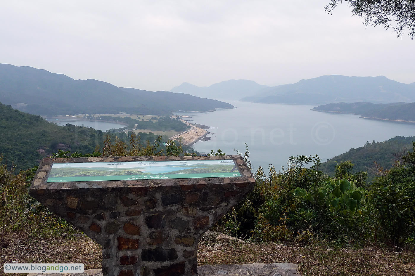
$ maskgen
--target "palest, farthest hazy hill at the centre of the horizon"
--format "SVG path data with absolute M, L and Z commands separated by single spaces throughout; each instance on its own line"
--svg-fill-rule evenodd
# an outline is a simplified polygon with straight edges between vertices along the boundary
M 173 87 L 170 91 L 210 99 L 238 100 L 242 97 L 255 94 L 265 87 L 268 86 L 259 85 L 252 80 L 225 80 L 212 84 L 209 87 L 198 87 L 188 82 L 183 82 L 181 85 Z

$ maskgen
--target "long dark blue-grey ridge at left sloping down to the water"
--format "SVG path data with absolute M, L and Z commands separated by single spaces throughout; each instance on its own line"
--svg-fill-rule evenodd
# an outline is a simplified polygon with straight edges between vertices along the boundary
M 208 111 L 231 104 L 166 91 L 119 88 L 99 80 L 73 80 L 28 66 L 0 64 L 0 102 L 31 114 L 118 113 L 166 115 L 171 110 Z

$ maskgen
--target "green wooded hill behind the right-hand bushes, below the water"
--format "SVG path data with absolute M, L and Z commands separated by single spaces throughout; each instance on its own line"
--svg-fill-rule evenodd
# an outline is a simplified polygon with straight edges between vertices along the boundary
M 371 181 L 376 177 L 375 161 L 383 169 L 390 169 L 395 161 L 399 160 L 399 156 L 412 148 L 413 141 L 415 141 L 415 136 L 396 136 L 384 142 L 370 143 L 368 141 L 362 147 L 351 148 L 348 152 L 327 160 L 320 165 L 319 170 L 334 175 L 337 164 L 351 161 L 354 164 L 353 172 L 367 171 L 368 181 Z

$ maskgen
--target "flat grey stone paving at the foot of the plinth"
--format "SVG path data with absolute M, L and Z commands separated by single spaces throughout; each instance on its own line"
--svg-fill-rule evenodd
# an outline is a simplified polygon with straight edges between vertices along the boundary
M 198 266 L 198 276 L 301 276 L 298 266 L 291 263 L 278 264 L 221 264 Z M 28 276 L 103 276 L 102 269 L 88 269 L 84 273 L 29 273 Z

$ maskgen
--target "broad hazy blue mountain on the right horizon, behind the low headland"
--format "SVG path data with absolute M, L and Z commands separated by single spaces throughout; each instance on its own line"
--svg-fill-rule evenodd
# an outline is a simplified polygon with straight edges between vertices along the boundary
M 415 102 L 415 85 L 389 80 L 385 76 L 330 75 L 263 88 L 250 97 L 242 98 L 241 101 L 282 104 Z

